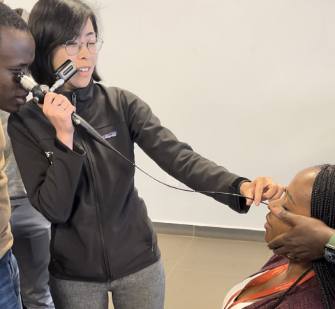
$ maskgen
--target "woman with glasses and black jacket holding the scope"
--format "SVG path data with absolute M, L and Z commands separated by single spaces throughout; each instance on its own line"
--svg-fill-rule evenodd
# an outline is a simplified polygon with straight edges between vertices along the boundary
M 195 190 L 261 199 L 283 192 L 271 178 L 250 182 L 204 159 L 161 126 L 134 94 L 100 81 L 96 60 L 103 41 L 96 16 L 80 0 L 40 0 L 29 18 L 36 41 L 31 74 L 52 85 L 66 59 L 79 71 L 43 106 L 32 101 L 10 116 L 8 132 L 31 204 L 52 222 L 50 289 L 56 308 L 163 308 L 165 277 L 157 236 L 134 187 L 135 168 L 74 128 L 84 118 L 126 158 L 134 143 L 158 166 Z M 55 94 L 48 94 L 49 98 Z M 43 108 L 40 108 L 43 107 Z M 263 194 L 263 192 L 265 192 Z M 251 200 L 212 195 L 246 213 Z

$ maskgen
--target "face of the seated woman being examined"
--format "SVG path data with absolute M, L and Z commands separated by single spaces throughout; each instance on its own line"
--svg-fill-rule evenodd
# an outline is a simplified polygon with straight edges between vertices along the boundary
M 296 215 L 311 217 L 311 194 L 313 182 L 318 172 L 319 170 L 313 166 L 297 173 L 290 185 L 285 188 L 285 195 L 281 199 L 271 201 L 269 205 L 281 207 Z M 289 229 L 288 224 L 278 220 L 271 212 L 267 214 L 267 222 L 265 223 L 267 243 Z

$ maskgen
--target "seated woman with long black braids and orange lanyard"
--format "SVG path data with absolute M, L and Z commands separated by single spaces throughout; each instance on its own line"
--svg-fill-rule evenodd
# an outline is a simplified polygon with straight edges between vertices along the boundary
M 335 166 L 313 166 L 299 172 L 285 196 L 269 206 L 315 217 L 335 227 Z M 290 227 L 270 212 L 265 223 L 267 243 Z M 308 237 L 308 235 L 306 235 Z M 335 308 L 335 264 L 324 258 L 297 261 L 274 255 L 256 274 L 225 296 L 223 309 Z

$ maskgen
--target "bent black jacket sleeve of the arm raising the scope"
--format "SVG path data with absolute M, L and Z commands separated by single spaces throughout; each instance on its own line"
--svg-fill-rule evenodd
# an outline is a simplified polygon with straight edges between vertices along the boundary
M 50 164 L 45 150 L 15 114 L 9 117 L 8 134 L 31 205 L 52 223 L 66 222 L 73 210 L 84 150 L 77 144 L 70 150 L 55 138 Z

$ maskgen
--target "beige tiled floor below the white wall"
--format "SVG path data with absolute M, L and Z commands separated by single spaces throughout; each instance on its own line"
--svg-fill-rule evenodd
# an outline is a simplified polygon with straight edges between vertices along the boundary
M 271 254 L 265 243 L 165 234 L 158 235 L 158 245 L 165 309 L 221 309 L 229 289 L 258 271 Z

